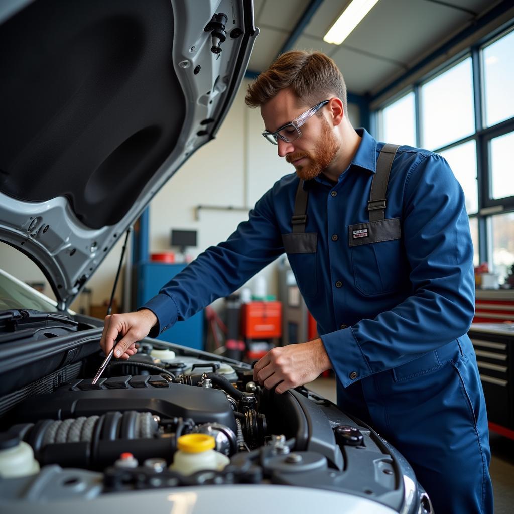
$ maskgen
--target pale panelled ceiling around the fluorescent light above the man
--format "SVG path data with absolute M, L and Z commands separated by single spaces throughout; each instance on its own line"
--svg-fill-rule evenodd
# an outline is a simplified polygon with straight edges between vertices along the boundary
M 478 13 L 492 5 L 491 0 L 448 2 Z M 257 25 L 262 26 L 250 69 L 262 71 L 269 65 L 308 3 L 255 0 Z M 430 0 L 380 0 L 342 45 L 325 43 L 324 34 L 348 3 L 324 0 L 292 48 L 320 50 L 332 57 L 345 75 L 348 90 L 356 94 L 387 85 L 473 19 L 469 12 Z

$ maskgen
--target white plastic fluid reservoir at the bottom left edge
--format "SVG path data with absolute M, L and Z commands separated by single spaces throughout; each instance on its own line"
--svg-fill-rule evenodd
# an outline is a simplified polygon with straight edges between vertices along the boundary
M 34 458 L 32 447 L 20 441 L 17 435 L 0 433 L 0 476 L 15 478 L 39 471 L 39 463 Z

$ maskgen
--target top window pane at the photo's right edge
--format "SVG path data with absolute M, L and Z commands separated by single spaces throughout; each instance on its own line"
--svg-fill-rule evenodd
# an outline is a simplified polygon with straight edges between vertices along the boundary
M 514 116 L 514 95 L 511 94 L 514 91 L 513 54 L 514 31 L 484 48 L 484 108 L 487 126 Z

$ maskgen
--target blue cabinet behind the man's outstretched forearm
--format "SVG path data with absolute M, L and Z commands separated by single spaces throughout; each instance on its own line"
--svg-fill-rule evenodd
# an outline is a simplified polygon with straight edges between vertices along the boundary
M 137 284 L 136 307 L 157 295 L 159 289 L 169 282 L 186 264 L 164 264 L 144 262 L 135 266 Z M 178 321 L 157 339 L 183 344 L 195 350 L 204 350 L 204 311 L 201 310 L 186 321 Z

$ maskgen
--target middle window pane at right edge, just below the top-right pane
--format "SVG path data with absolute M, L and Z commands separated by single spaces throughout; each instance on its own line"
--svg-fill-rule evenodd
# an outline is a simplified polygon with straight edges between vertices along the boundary
M 514 148 L 514 132 L 495 137 L 489 143 L 493 198 L 514 195 L 514 176 L 510 156 L 512 148 Z

